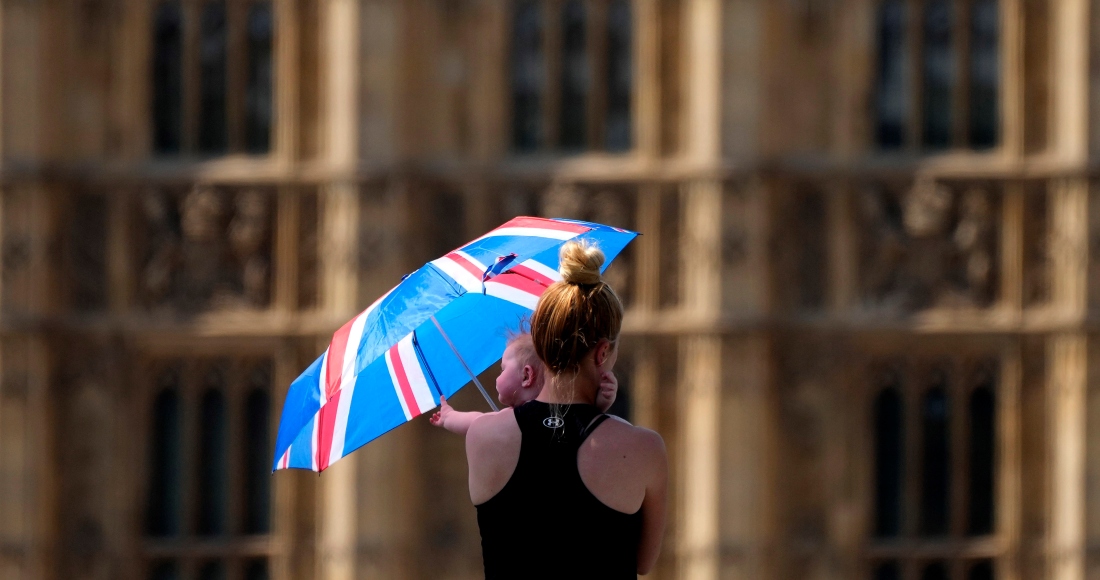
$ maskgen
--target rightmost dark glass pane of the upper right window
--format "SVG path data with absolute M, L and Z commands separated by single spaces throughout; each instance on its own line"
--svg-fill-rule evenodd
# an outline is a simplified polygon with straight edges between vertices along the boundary
M 1000 35 L 998 0 L 974 0 L 970 7 L 970 125 L 975 149 L 997 144 L 1000 133 Z

